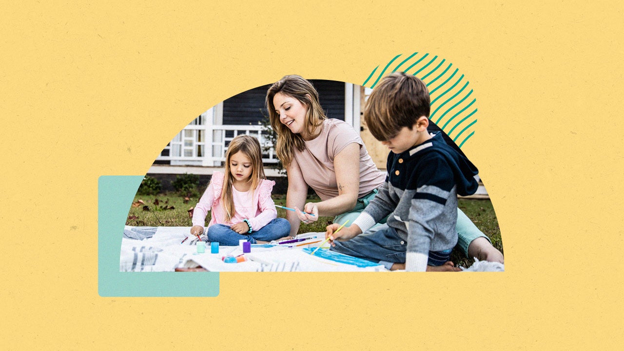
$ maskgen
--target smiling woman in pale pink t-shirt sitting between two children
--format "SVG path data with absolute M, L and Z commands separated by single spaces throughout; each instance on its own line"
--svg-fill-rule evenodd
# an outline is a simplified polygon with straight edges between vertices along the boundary
M 286 206 L 296 210 L 286 213 L 291 235 L 297 234 L 301 221 L 314 222 L 319 216 L 334 216 L 334 222 L 339 223 L 353 222 L 386 179 L 358 133 L 343 121 L 328 119 L 318 92 L 300 76 L 285 76 L 275 82 L 266 92 L 266 107 L 278 135 L 276 154 L 288 174 Z M 320 202 L 306 203 L 308 186 Z M 458 244 L 468 257 L 503 262 L 499 250 L 461 210 L 457 231 Z

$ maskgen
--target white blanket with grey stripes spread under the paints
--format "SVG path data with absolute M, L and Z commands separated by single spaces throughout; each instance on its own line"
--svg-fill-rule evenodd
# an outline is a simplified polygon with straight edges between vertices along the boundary
M 251 252 L 245 254 L 248 259 L 236 264 L 225 263 L 225 255 L 243 254 L 238 246 L 220 246 L 218 254 L 210 253 L 210 244 L 206 252 L 197 253 L 197 241 L 188 235 L 190 227 L 157 227 L 154 235 L 145 235 L 145 227 L 126 226 L 125 230 L 140 232 L 146 239 L 130 239 L 127 235 L 122 239 L 120 270 L 124 272 L 171 272 L 177 267 L 201 266 L 217 272 L 380 272 L 387 271 L 383 265 L 371 264 L 368 261 L 349 257 L 333 260 L 321 255 L 310 255 L 306 247 L 317 247 L 320 240 L 310 240 L 314 244 L 296 246 L 305 242 L 288 245 L 251 245 Z M 149 233 L 149 231 L 148 231 Z M 324 233 L 306 233 L 298 238 Z M 130 235 L 132 237 L 132 235 Z M 185 240 L 185 238 L 187 238 Z M 184 242 L 182 242 L 185 240 Z M 325 250 L 325 249 L 319 249 Z M 336 253 L 337 254 L 337 253 Z M 341 254 L 337 254 L 341 255 Z M 327 255 L 323 255 L 327 256 Z M 346 264 L 349 262 L 352 264 Z M 368 262 L 368 264 L 367 264 Z M 356 263 L 356 264 L 353 264 Z M 358 267 L 359 264 L 359 267 Z

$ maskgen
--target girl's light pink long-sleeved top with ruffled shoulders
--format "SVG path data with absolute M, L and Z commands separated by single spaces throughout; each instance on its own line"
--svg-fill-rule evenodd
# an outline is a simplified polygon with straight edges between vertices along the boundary
M 212 175 L 208 188 L 197 205 L 195 205 L 193 225 L 202 225 L 203 227 L 209 210 L 212 210 L 212 219 L 210 219 L 208 227 L 213 224 L 231 226 L 242 222 L 243 219 L 248 219 L 251 228 L 256 231 L 277 218 L 275 203 L 271 199 L 271 191 L 275 182 L 273 180 L 261 179 L 255 191 L 250 189 L 248 192 L 240 192 L 232 185 L 232 198 L 236 212 L 232 219 L 226 222 L 225 210 L 221 201 L 223 179 L 224 175 L 222 172 L 215 172 Z

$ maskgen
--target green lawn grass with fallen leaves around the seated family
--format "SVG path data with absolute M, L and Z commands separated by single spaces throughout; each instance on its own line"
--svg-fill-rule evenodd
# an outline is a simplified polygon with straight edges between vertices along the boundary
M 144 204 L 139 204 L 139 200 L 142 200 Z M 150 227 L 190 227 L 192 224 L 188 215 L 188 209 L 194 207 L 198 200 L 198 197 L 191 197 L 185 200 L 183 196 L 175 192 L 158 195 L 137 195 L 134 198 L 134 203 L 139 205 L 130 207 L 125 224 Z M 285 195 L 273 195 L 273 200 L 276 205 L 286 205 Z M 314 195 L 310 196 L 309 200 L 316 202 L 320 199 Z M 144 209 L 144 206 L 147 206 L 147 209 Z M 459 199 L 459 208 L 492 240 L 492 245 L 499 249 L 500 252 L 503 252 L 499 222 L 496 219 L 492 202 L 490 200 Z M 278 217 L 286 217 L 286 210 L 277 210 Z M 332 220 L 333 217 L 319 217 L 316 222 L 310 224 L 301 223 L 299 233 L 324 232 L 325 227 Z M 206 218 L 206 222 L 208 223 L 209 221 L 210 214 Z M 467 259 L 458 250 L 453 251 L 451 260 L 456 265 L 464 265 L 464 267 L 472 264 L 472 259 Z

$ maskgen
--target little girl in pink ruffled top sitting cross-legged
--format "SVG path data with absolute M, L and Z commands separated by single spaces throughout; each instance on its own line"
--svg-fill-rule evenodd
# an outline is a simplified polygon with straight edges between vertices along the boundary
M 237 136 L 225 154 L 225 175 L 215 172 L 208 188 L 195 206 L 191 234 L 201 235 L 208 210 L 208 240 L 221 245 L 251 244 L 286 239 L 290 223 L 277 218 L 271 190 L 275 182 L 266 180 L 260 142 L 255 137 Z

